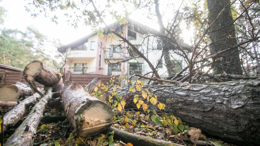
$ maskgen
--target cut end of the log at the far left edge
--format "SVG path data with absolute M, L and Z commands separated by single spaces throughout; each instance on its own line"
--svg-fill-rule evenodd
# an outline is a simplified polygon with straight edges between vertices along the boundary
M 17 101 L 20 94 L 20 90 L 13 84 L 0 86 L 0 100 L 2 101 Z

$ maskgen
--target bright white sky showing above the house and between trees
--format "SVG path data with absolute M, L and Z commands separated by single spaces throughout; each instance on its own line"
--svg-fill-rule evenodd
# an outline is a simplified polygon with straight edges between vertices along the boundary
M 180 5 L 180 2 L 180 0 L 176 0 L 176 6 Z M 2 0 L 0 5 L 4 7 L 5 10 L 7 10 L 3 27 L 25 31 L 27 26 L 33 26 L 37 28 L 40 33 L 47 36 L 49 40 L 59 39 L 63 45 L 84 37 L 92 32 L 91 27 L 87 27 L 83 24 L 79 24 L 78 28 L 69 26 L 66 22 L 67 18 L 63 15 L 64 12 L 61 11 L 55 12 L 58 16 L 58 25 L 56 25 L 54 22 L 51 22 L 50 18 L 43 15 L 38 15 L 37 17 L 33 18 L 31 14 L 25 10 L 24 6 L 27 5 L 27 2 L 24 0 Z M 130 18 L 154 29 L 158 29 L 158 24 L 156 22 L 149 20 L 140 14 L 142 14 L 140 11 L 132 12 Z M 171 13 L 165 12 L 164 15 L 166 14 L 172 15 Z M 108 19 L 109 20 L 107 22 L 113 22 L 111 18 Z M 190 40 L 189 36 L 191 31 L 192 30 L 183 28 L 183 36 L 186 38 L 185 42 Z M 57 48 L 51 46 L 50 44 L 48 44 L 46 47 L 46 53 L 51 56 L 54 55 L 53 51 L 56 50 Z

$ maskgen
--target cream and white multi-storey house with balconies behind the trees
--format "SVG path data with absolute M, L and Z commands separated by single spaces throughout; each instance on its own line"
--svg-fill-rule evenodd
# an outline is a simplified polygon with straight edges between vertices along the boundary
M 162 56 L 162 49 L 158 47 L 158 40 L 151 35 L 155 30 L 139 22 L 127 19 L 127 23 L 118 25 L 113 23 L 110 26 L 121 29 L 121 35 L 135 45 L 144 56 L 156 66 Z M 128 51 L 130 50 L 130 51 Z M 122 72 L 128 75 L 133 73 L 146 74 L 151 72 L 148 63 L 136 53 L 132 53 L 126 42 L 113 33 L 97 34 L 91 33 L 68 45 L 58 48 L 58 51 L 66 55 L 67 64 L 65 70 L 72 74 L 99 74 L 99 75 L 119 75 Z M 173 56 L 175 70 L 181 69 L 185 65 L 181 57 Z M 178 61 L 178 63 L 176 62 Z M 164 61 L 158 66 L 158 74 L 161 77 L 168 77 L 167 67 Z

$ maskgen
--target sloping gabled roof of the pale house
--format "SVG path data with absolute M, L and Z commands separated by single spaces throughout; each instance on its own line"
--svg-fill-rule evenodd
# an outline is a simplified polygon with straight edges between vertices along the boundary
M 136 31 L 136 32 L 139 32 L 139 33 L 142 33 L 142 34 L 145 34 L 145 33 L 151 33 L 151 34 L 159 34 L 159 32 L 157 31 L 157 30 L 155 30 L 155 29 L 153 29 L 153 28 L 151 28 L 151 27 L 148 27 L 148 26 L 146 26 L 146 25 L 144 25 L 144 24 L 142 24 L 142 23 L 140 23 L 140 22 L 137 22 L 137 21 L 134 21 L 134 20 L 132 20 L 132 19 L 130 19 L 130 18 L 126 18 L 126 20 L 128 21 L 128 27 L 132 27 L 132 26 L 135 26 L 135 27 L 133 27 L 133 29 L 134 29 L 134 31 Z M 112 23 L 112 24 L 110 24 L 109 26 L 110 27 L 114 27 L 115 26 L 115 24 L 117 24 L 116 22 L 114 22 L 114 23 Z M 136 27 L 137 26 L 137 27 Z M 106 29 L 106 27 L 104 27 L 103 29 Z M 80 38 L 80 39 L 78 39 L 78 40 L 76 40 L 76 41 L 73 41 L 73 42 L 71 42 L 71 43 L 69 43 L 69 44 L 67 44 L 67 45 L 64 45 L 64 46 L 61 46 L 61 47 L 59 47 L 58 48 L 58 51 L 59 52 L 61 52 L 61 53 L 63 53 L 63 52 L 65 52 L 68 48 L 76 48 L 77 46 L 79 46 L 79 45 L 82 45 L 83 43 L 85 43 L 85 42 L 87 42 L 88 41 L 88 38 L 89 37 L 92 37 L 92 36 L 94 36 L 94 35 L 96 35 L 97 33 L 94 33 L 94 32 L 92 32 L 92 33 L 90 33 L 90 34 L 88 34 L 87 36 L 85 36 L 85 37 L 82 37 L 82 38 Z M 178 41 L 178 40 L 177 40 Z M 189 46 L 188 44 L 186 44 L 186 43 L 184 43 L 183 41 L 178 41 L 178 44 L 180 45 L 180 46 L 182 46 L 185 50 L 188 50 L 191 46 Z

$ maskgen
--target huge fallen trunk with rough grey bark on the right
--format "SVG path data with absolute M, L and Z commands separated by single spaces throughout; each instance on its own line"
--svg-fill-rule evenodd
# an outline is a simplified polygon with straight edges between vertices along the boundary
M 260 143 L 260 79 L 223 83 L 146 85 L 164 103 L 165 112 L 200 128 L 203 133 L 227 142 Z M 118 91 L 126 97 L 125 108 L 136 108 L 128 88 Z M 149 105 L 151 107 L 151 105 Z M 158 109 L 158 108 L 157 108 Z

